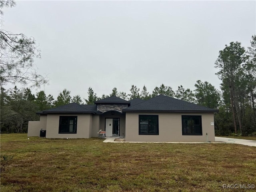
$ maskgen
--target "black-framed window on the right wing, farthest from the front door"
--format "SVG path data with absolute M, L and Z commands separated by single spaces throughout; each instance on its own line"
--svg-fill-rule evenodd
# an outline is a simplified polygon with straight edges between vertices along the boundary
M 182 115 L 182 135 L 202 135 L 202 116 Z

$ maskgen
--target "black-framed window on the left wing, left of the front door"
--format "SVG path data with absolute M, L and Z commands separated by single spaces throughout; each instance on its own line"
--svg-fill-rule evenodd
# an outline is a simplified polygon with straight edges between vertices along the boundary
M 77 116 L 60 116 L 59 133 L 76 133 Z

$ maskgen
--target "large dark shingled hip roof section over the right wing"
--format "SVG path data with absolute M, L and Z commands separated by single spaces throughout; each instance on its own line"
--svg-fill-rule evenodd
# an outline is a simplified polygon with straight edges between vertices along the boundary
M 178 100 L 164 95 L 158 95 L 144 102 L 140 102 L 138 104 L 123 109 L 123 111 L 218 112 L 218 110 L 215 109 Z

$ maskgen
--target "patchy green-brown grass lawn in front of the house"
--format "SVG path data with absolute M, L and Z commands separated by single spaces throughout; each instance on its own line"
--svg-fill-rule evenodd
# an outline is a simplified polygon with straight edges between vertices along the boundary
M 255 191 L 222 186 L 256 184 L 256 147 L 102 141 L 1 134 L 1 192 Z

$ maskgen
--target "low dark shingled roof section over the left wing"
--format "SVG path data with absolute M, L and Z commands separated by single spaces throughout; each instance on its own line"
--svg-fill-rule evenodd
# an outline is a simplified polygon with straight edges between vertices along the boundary
M 90 107 L 84 107 L 83 105 L 79 105 L 77 103 L 70 103 L 56 108 L 44 110 L 42 112 L 37 112 L 37 114 L 50 113 L 97 113 L 97 109 L 92 110 Z

